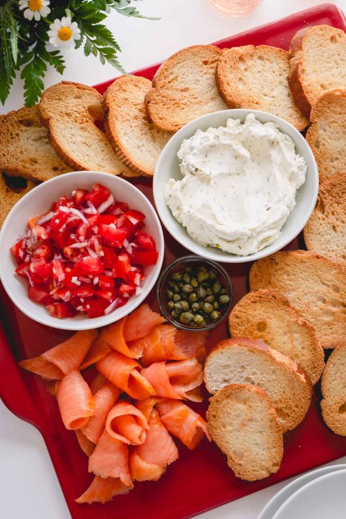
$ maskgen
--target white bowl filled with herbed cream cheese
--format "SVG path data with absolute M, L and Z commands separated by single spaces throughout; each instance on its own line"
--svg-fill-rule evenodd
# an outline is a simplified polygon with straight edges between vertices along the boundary
M 209 260 L 257 260 L 289 244 L 316 203 L 318 169 L 302 134 L 257 110 L 210 113 L 169 140 L 154 199 L 168 232 Z

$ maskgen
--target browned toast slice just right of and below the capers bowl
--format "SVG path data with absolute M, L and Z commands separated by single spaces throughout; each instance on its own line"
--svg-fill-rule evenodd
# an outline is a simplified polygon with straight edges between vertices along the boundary
M 297 361 L 316 384 L 325 367 L 325 353 L 315 329 L 300 318 L 285 295 L 275 290 L 247 293 L 228 318 L 233 337 L 262 339 L 268 346 Z

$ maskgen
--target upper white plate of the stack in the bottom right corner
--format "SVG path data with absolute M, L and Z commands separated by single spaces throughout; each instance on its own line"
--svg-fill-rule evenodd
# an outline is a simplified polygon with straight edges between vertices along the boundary
M 298 489 L 273 519 L 345 519 L 346 469 L 318 477 Z

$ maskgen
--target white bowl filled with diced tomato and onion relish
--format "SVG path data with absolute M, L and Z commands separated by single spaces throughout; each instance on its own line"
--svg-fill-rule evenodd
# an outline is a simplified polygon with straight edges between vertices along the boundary
M 98 328 L 133 311 L 161 271 L 163 232 L 134 185 L 100 172 L 55 177 L 26 194 L 0 232 L 0 278 L 43 325 Z

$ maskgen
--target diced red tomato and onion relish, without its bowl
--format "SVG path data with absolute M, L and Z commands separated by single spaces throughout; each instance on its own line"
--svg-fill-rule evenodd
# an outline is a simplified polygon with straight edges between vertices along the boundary
M 15 272 L 28 281 L 28 297 L 51 316 L 103 316 L 140 293 L 144 267 L 156 264 L 145 215 L 116 201 L 103 185 L 81 188 L 28 221 L 11 248 Z

